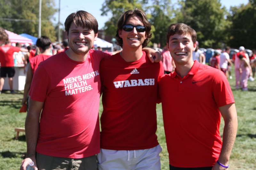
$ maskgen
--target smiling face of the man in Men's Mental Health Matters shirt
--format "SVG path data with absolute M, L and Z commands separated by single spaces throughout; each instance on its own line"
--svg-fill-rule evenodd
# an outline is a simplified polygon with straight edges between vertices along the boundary
M 98 34 L 73 22 L 68 31 L 68 45 L 75 55 L 85 55 L 92 48 Z

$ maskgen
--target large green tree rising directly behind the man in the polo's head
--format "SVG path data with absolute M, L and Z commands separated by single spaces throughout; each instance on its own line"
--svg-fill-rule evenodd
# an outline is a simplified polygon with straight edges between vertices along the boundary
M 196 30 L 201 47 L 220 48 L 226 43 L 225 31 L 230 23 L 224 18 L 227 11 L 219 0 L 183 0 L 180 5 L 182 15 L 178 22 Z

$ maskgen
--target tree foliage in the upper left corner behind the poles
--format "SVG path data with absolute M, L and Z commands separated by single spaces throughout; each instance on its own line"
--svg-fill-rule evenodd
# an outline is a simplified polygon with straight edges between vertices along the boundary
M 50 21 L 57 11 L 54 0 L 42 1 L 41 35 L 56 41 L 55 29 Z M 0 18 L 28 19 L 30 21 L 8 21 L 0 19 L 0 27 L 14 33 L 27 33 L 38 37 L 38 0 L 0 0 Z

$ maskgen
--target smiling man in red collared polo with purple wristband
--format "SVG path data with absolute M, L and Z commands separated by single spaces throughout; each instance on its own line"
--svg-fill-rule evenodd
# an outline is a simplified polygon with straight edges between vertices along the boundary
M 196 32 L 186 24 L 169 26 L 167 45 L 176 69 L 161 77 L 159 91 L 170 169 L 226 169 L 237 131 L 228 80 L 220 70 L 193 61 Z

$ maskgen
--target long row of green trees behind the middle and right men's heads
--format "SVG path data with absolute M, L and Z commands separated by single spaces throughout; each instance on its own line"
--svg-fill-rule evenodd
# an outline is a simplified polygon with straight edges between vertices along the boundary
M 175 7 L 175 8 L 174 8 Z M 106 33 L 116 35 L 119 17 L 124 11 L 141 8 L 147 13 L 152 25 L 151 41 L 166 44 L 166 32 L 172 23 L 185 23 L 197 32 L 200 47 L 224 48 L 228 45 L 255 48 L 256 0 L 246 5 L 221 7 L 220 0 L 106 0 L 101 7 L 102 14 L 112 14 L 105 23 Z M 152 45 L 152 43 L 151 43 Z

